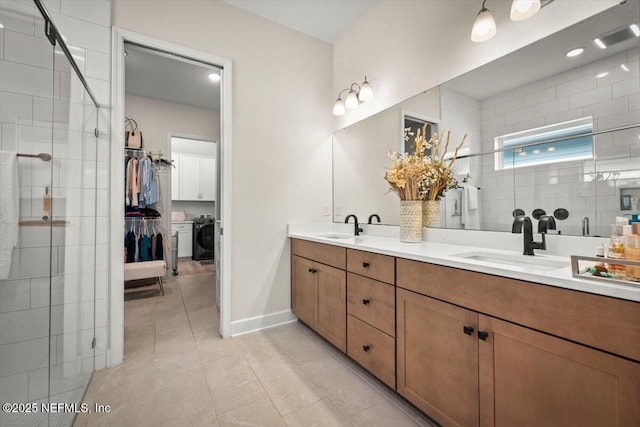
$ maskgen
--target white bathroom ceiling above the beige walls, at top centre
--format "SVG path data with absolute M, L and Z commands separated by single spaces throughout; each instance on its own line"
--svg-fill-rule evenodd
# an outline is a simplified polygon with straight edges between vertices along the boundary
M 225 2 L 333 44 L 378 0 L 225 0 Z

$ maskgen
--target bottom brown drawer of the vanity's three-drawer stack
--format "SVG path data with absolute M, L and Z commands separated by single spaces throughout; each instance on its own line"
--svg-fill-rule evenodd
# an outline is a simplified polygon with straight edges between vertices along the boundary
M 392 389 L 396 389 L 395 339 L 347 315 L 347 354 Z

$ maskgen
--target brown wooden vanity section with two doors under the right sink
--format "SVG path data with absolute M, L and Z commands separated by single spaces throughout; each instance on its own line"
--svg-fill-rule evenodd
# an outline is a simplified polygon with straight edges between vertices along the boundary
M 633 335 L 640 305 L 400 259 L 397 275 L 398 393 L 442 425 L 640 425 L 640 363 L 567 329 Z

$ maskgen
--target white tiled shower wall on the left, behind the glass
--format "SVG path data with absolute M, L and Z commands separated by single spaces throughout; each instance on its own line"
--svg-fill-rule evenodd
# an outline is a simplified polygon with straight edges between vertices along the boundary
M 106 108 L 97 111 L 54 51 L 33 1 L 0 1 L 0 149 L 53 156 L 19 159 L 20 219 L 43 215 L 49 185 L 53 219 L 68 222 L 21 227 L 9 278 L 0 281 L 4 402 L 49 393 L 78 401 L 94 366 L 106 365 L 111 1 L 44 3 Z

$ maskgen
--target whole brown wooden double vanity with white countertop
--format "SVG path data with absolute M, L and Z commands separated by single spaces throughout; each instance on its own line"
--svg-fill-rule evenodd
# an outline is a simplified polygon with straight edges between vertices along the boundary
M 329 225 L 331 227 L 331 225 Z M 290 226 L 298 318 L 442 425 L 640 425 L 640 288 L 569 257 Z

